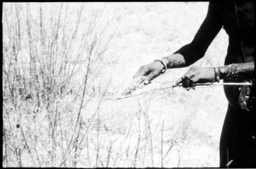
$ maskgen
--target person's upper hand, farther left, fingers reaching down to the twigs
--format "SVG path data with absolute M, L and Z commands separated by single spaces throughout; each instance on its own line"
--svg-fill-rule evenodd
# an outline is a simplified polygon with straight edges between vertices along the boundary
M 154 61 L 150 64 L 141 66 L 133 78 L 146 76 L 144 84 L 148 84 L 162 73 L 163 68 L 164 65 L 160 61 Z

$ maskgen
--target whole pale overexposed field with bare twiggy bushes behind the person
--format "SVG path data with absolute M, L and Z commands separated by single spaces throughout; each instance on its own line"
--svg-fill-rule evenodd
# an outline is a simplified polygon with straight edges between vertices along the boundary
M 207 2 L 3 3 L 4 167 L 219 167 L 222 86 L 115 98 L 189 43 Z M 197 66 L 224 64 L 221 30 Z M 172 85 L 169 69 L 146 91 Z

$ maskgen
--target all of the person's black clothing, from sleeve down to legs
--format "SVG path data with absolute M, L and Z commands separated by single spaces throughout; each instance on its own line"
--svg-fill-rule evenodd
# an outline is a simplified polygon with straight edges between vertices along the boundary
M 237 10 L 236 10 L 237 9 Z M 209 3 L 208 13 L 191 43 L 184 45 L 175 53 L 184 56 L 187 65 L 193 64 L 202 58 L 215 36 L 221 28 L 224 28 L 229 36 L 229 45 L 225 65 L 231 63 L 243 63 L 254 61 L 254 3 Z M 242 42 L 242 43 L 241 43 Z M 242 52 L 242 47 L 244 55 Z M 224 82 L 242 82 L 232 80 Z M 229 107 L 222 130 L 220 142 L 221 167 L 225 167 L 229 148 L 229 159 L 233 160 L 233 167 L 249 167 L 255 165 L 255 139 L 252 141 L 252 133 L 245 131 L 252 126 L 253 120 L 242 120 L 247 117 L 246 113 L 239 109 L 240 86 L 224 86 L 224 91 L 229 102 Z M 239 115 L 238 115 L 239 114 Z M 233 122 L 236 121 L 244 126 L 242 130 Z M 255 137 L 255 132 L 254 132 Z M 249 150 L 250 149 L 250 150 Z M 248 150 L 248 151 L 247 151 Z M 225 164 L 225 165 L 224 165 Z M 230 165 L 231 166 L 231 165 Z

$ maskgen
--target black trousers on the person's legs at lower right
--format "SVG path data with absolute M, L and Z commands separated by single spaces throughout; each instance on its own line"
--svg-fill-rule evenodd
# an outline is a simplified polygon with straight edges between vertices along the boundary
M 255 167 L 255 112 L 228 105 L 221 133 L 220 167 Z M 232 161 L 231 161 L 232 160 Z

